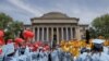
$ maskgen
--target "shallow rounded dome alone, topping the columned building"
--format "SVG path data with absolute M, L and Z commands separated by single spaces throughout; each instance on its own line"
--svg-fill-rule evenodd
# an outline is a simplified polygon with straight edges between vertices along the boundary
M 61 12 L 49 12 L 44 14 L 41 17 L 68 17 L 68 15 Z

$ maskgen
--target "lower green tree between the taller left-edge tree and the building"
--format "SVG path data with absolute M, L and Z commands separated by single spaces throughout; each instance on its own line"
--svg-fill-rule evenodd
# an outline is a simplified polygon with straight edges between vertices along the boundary
M 23 29 L 23 23 L 19 21 L 11 22 L 5 28 L 5 39 L 20 37 L 20 33 Z

